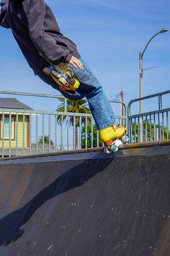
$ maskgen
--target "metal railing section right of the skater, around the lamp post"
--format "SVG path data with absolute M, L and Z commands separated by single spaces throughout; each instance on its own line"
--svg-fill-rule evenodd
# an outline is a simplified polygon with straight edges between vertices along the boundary
M 142 129 L 142 141 L 150 142 L 156 140 L 169 140 L 169 114 L 170 108 L 163 108 L 163 96 L 169 95 L 170 90 L 143 98 L 137 98 L 128 104 L 128 134 L 130 142 L 139 142 L 140 124 Z M 146 101 L 148 99 L 158 99 L 158 108 L 155 111 L 146 111 L 143 114 L 131 114 L 134 103 Z

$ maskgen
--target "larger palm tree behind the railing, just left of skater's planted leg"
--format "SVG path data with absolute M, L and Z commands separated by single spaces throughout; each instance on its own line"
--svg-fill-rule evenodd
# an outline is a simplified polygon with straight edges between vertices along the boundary
M 58 106 L 56 111 L 58 112 L 64 112 L 64 98 L 59 98 L 59 101 L 61 101 L 61 105 Z M 86 106 L 86 99 L 81 99 L 78 101 L 73 101 L 73 100 L 67 100 L 67 112 L 71 113 L 84 113 L 84 114 L 90 114 L 90 109 L 88 106 Z M 62 123 L 63 121 L 66 121 L 67 116 L 58 116 L 57 122 L 58 124 Z M 90 118 L 87 119 L 89 122 L 91 120 Z M 85 117 L 82 117 L 82 122 L 85 123 Z M 79 116 L 69 116 L 69 124 L 70 127 L 75 125 L 75 130 L 74 130 L 74 136 L 75 136 L 75 145 L 73 142 L 73 145 L 75 146 L 75 149 L 78 148 L 78 127 L 80 123 L 80 118 Z

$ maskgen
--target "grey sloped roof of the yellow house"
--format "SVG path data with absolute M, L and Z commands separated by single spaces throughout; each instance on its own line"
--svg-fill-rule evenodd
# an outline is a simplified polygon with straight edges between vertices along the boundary
M 16 98 L 0 98 L 0 108 L 33 110 Z

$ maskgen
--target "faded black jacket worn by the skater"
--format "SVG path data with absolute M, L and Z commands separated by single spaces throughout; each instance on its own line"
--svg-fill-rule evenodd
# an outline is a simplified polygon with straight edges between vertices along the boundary
M 79 58 L 76 44 L 66 38 L 44 0 L 2 0 L 0 25 L 10 28 L 34 70 L 40 74 L 48 65 Z

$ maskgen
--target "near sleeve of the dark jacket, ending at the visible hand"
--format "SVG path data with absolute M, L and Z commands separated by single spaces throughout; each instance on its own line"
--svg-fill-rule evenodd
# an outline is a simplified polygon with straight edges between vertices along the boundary
M 30 4 L 26 16 L 32 43 L 48 62 L 55 65 L 68 62 L 71 59 L 70 51 L 61 48 L 56 40 L 43 30 L 45 2 L 40 0 L 38 4 L 35 1 L 30 2 L 34 4 Z

